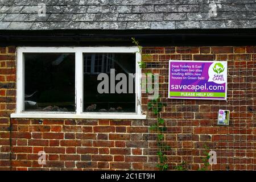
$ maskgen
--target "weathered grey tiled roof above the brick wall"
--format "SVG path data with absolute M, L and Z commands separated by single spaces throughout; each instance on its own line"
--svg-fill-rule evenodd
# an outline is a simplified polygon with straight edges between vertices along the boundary
M 219 2 L 210 16 L 209 0 L 0 0 L 0 29 L 256 28 L 255 0 Z

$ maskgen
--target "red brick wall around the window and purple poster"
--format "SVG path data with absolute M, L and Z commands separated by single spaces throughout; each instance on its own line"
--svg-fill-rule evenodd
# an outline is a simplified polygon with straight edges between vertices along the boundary
M 170 169 L 186 162 L 202 166 L 204 144 L 217 152 L 210 169 L 256 169 L 256 47 L 145 47 L 147 69 L 159 73 L 161 113 Z M 228 60 L 228 102 L 166 100 L 168 60 Z M 142 94 L 146 120 L 10 119 L 15 111 L 15 48 L 0 48 L 0 170 L 156 169 L 155 122 Z M 229 109 L 230 126 L 216 125 L 218 109 Z M 10 126 L 12 131 L 10 132 Z M 46 165 L 38 152 L 46 152 Z M 11 154 L 11 155 L 10 155 Z

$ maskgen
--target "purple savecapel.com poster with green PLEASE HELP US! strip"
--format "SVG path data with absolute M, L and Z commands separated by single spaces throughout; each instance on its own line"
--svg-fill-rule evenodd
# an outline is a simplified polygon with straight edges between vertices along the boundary
M 226 100 L 227 61 L 169 61 L 168 98 Z

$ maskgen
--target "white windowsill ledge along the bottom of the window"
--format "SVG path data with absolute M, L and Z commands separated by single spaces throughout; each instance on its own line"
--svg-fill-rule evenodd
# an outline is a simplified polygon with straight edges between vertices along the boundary
M 61 119 L 146 119 L 146 115 L 135 113 L 75 114 L 75 113 L 13 113 L 11 118 L 61 118 Z

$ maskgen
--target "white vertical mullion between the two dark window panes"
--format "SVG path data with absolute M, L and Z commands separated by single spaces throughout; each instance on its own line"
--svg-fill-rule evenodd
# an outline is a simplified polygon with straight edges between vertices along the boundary
M 82 60 L 82 51 L 76 51 L 76 113 L 82 113 L 83 88 L 84 88 L 84 64 Z

